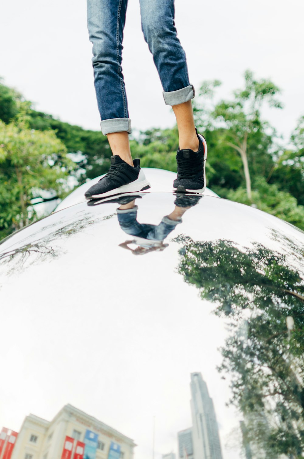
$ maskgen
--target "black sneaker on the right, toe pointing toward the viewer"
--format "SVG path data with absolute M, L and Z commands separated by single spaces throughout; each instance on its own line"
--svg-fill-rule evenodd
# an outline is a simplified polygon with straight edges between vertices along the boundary
M 196 133 L 197 133 L 197 129 Z M 177 178 L 174 191 L 180 193 L 203 193 L 206 188 L 207 143 L 203 135 L 197 134 L 198 151 L 180 150 L 176 153 Z

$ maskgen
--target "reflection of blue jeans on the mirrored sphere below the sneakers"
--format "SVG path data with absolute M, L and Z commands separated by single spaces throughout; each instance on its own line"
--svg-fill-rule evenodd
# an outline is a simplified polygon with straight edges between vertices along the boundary
M 138 223 L 137 221 L 137 206 L 132 209 L 119 210 L 117 209 L 118 222 L 120 228 L 125 233 L 148 239 L 150 241 L 163 241 L 175 229 L 175 226 L 182 220 L 170 220 L 168 217 L 163 217 L 159 225 L 146 223 Z

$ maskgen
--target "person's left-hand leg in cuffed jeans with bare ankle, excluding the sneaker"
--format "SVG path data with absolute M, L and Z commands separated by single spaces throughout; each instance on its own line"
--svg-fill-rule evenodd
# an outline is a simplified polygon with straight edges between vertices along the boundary
M 133 166 L 128 136 L 131 120 L 121 67 L 127 4 L 128 0 L 87 0 L 87 20 L 101 131 L 113 154 Z

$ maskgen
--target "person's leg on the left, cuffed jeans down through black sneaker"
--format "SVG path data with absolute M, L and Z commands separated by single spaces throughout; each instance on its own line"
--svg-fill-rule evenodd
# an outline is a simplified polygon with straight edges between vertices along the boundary
M 140 161 L 132 161 L 129 146 L 131 120 L 121 67 L 127 5 L 128 0 L 87 0 L 101 131 L 113 152 L 109 172 L 85 193 L 87 199 L 150 188 Z

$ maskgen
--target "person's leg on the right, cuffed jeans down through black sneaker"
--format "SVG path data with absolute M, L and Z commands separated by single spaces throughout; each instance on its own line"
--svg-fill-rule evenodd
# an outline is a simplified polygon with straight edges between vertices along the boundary
M 186 54 L 177 38 L 174 0 L 140 0 L 141 28 L 163 86 L 163 98 L 175 113 L 179 130 L 178 191 L 203 192 L 207 145 L 196 132 Z

